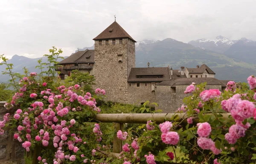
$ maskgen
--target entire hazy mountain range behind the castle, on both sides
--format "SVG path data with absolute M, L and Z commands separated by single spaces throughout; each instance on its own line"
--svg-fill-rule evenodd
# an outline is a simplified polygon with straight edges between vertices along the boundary
M 248 76 L 256 75 L 256 41 L 246 38 L 229 40 L 218 36 L 213 40 L 198 39 L 188 43 L 171 38 L 161 41 L 142 40 L 135 44 L 135 48 L 136 67 L 147 67 L 149 62 L 150 67 L 169 65 L 179 69 L 181 66 L 195 68 L 196 65 L 205 63 L 216 73 L 217 79 L 246 82 Z M 85 49 L 94 49 L 94 45 L 81 48 L 79 51 Z M 15 72 L 22 72 L 24 66 L 34 72 L 39 71 L 35 69 L 38 59 L 15 55 L 8 62 L 14 64 Z M 45 57 L 42 59 L 43 62 L 47 61 Z M 4 70 L 5 67 L 0 66 L 0 71 Z M 2 75 L 0 82 L 5 82 L 7 79 L 9 77 Z

